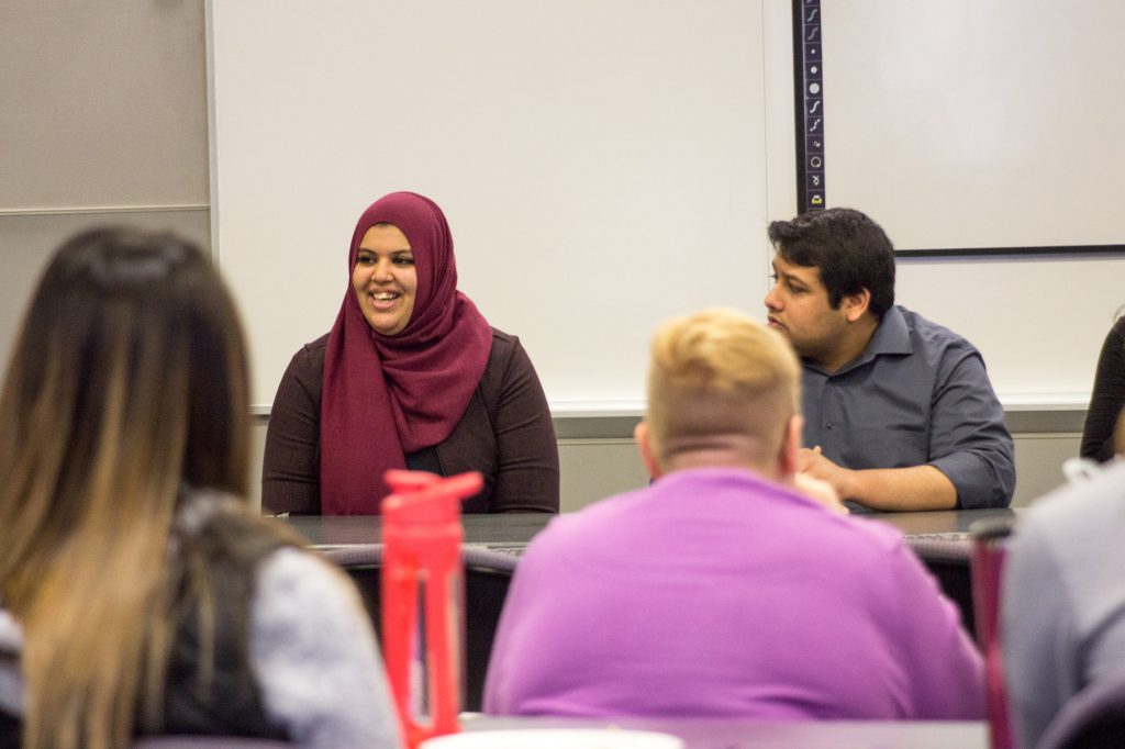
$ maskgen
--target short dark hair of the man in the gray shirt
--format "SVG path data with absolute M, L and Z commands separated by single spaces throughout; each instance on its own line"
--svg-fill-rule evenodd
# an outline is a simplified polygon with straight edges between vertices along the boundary
M 880 319 L 894 304 L 894 245 L 858 210 L 828 208 L 773 222 L 770 241 L 785 262 L 820 269 L 832 309 L 863 289 L 871 291 L 870 308 Z

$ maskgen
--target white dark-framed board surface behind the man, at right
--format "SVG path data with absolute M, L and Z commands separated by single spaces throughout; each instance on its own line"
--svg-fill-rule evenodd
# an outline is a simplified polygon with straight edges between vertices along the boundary
M 879 217 L 900 250 L 1125 244 L 1125 3 L 821 12 L 831 205 Z

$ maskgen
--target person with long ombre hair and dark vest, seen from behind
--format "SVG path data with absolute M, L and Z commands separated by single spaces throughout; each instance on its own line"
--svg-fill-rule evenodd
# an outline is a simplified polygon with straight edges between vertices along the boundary
M 354 589 L 246 507 L 248 421 L 206 255 L 134 229 L 57 251 L 0 392 L 3 740 L 399 746 Z

